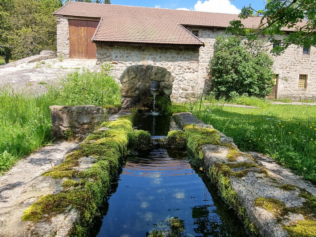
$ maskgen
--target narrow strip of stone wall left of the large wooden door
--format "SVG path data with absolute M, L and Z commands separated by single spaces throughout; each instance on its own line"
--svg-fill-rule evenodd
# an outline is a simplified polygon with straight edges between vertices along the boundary
M 69 26 L 68 18 L 56 17 L 57 21 L 57 55 L 69 58 Z

